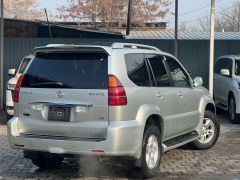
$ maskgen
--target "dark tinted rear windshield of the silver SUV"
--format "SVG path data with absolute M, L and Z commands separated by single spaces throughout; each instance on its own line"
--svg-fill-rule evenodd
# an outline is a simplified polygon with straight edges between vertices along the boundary
M 24 75 L 22 87 L 107 89 L 108 56 L 104 53 L 41 53 Z

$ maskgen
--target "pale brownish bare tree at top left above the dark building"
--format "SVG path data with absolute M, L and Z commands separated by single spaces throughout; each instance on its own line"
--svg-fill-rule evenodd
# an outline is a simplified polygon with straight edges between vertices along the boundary
M 4 0 L 4 16 L 19 19 L 43 19 L 37 0 Z

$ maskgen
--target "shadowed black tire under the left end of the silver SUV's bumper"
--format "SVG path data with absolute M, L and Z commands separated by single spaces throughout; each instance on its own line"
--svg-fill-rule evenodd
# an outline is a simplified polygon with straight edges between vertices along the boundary
M 37 152 L 29 159 L 35 166 L 41 169 L 52 169 L 59 167 L 64 158 L 57 154 Z

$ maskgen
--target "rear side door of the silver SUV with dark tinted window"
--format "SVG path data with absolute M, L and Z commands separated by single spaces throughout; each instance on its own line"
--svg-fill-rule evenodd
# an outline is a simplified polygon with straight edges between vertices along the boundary
M 178 116 L 176 112 L 177 94 L 172 87 L 169 73 L 163 63 L 164 57 L 157 54 L 145 54 L 153 73 L 154 100 L 160 109 L 164 121 L 163 140 L 169 139 L 178 133 Z

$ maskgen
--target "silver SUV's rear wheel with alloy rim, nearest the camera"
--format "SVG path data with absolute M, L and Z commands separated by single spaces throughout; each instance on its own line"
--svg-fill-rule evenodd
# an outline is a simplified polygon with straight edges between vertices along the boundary
M 161 154 L 162 154 L 162 142 L 160 131 L 156 126 L 149 125 L 146 127 L 144 131 L 142 142 L 140 173 L 143 178 L 150 178 L 157 174 L 160 166 Z M 150 162 L 151 161 L 150 156 L 153 156 L 151 157 L 153 162 Z

